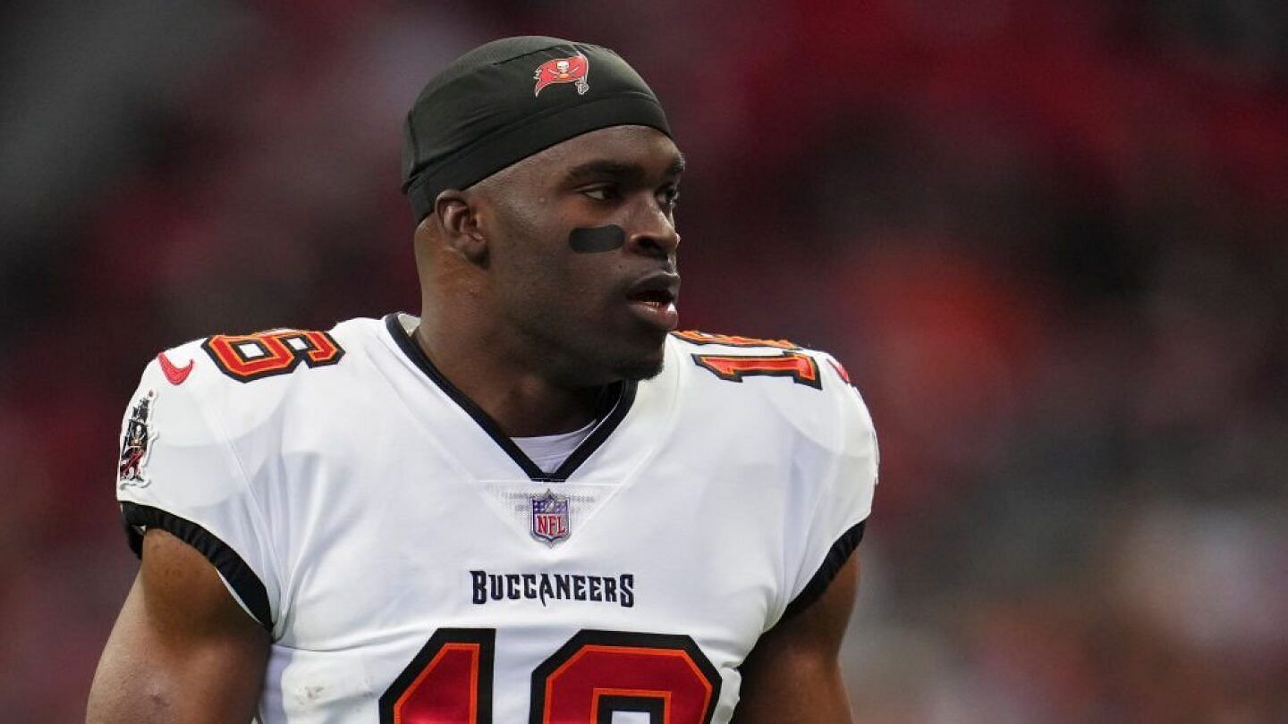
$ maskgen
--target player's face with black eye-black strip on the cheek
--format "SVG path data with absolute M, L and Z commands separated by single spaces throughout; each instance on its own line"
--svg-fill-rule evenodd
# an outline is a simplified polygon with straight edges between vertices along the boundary
M 675 200 L 684 161 L 656 129 L 614 126 L 482 186 L 498 313 L 571 385 L 647 379 L 679 318 Z

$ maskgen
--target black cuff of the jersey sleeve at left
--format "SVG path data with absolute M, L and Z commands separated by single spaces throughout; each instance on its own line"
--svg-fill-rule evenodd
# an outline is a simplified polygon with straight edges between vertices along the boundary
M 166 513 L 160 508 L 121 501 L 121 515 L 125 519 L 125 535 L 134 555 L 143 558 L 143 532 L 140 528 L 160 528 L 183 542 L 197 549 L 206 557 L 228 585 L 237 591 L 237 598 L 269 633 L 273 631 L 273 614 L 268 607 L 268 590 L 250 566 L 237 555 L 228 544 L 215 537 L 201 526 Z

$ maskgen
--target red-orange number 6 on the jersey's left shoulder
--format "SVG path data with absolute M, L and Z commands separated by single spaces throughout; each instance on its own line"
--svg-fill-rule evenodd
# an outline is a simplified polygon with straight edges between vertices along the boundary
M 215 335 L 201 343 L 224 375 L 238 383 L 289 375 L 305 367 L 336 365 L 344 349 L 327 332 L 313 330 L 268 330 L 252 335 Z

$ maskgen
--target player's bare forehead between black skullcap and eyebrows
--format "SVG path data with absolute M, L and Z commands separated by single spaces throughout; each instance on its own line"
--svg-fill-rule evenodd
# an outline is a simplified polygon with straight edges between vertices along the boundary
M 546 178 L 621 170 L 643 175 L 679 176 L 684 155 L 665 133 L 649 126 L 611 126 L 556 143 L 522 161 L 526 170 Z

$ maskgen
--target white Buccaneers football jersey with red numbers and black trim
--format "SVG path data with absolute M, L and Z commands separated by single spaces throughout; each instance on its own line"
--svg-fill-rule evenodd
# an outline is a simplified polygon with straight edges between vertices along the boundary
M 122 425 L 130 542 L 200 550 L 272 634 L 267 724 L 729 721 L 738 666 L 872 505 L 872 421 L 790 343 L 683 332 L 542 473 L 413 317 L 166 350 Z

